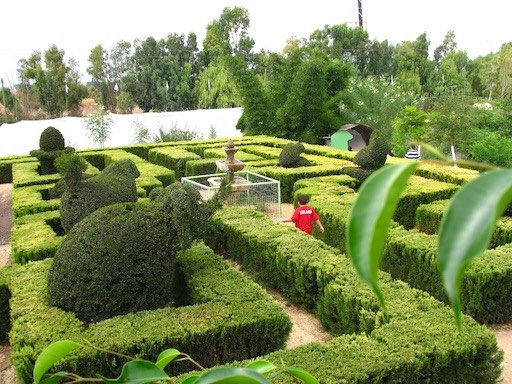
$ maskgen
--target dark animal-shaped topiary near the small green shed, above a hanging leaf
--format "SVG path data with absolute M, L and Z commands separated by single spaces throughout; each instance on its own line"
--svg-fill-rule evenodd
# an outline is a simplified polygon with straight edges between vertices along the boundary
M 359 167 L 344 167 L 342 172 L 354 177 L 360 183 L 386 163 L 390 145 L 379 130 L 374 130 L 368 146 L 355 155 L 352 162 Z

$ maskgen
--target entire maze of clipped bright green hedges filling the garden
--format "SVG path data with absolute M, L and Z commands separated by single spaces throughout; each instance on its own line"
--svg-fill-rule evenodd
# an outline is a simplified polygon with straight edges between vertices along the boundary
M 215 172 L 226 140 L 159 143 L 77 151 L 91 174 L 119 159 L 136 164 L 139 204 L 183 176 Z M 267 136 L 235 140 L 247 170 L 280 181 L 283 202 L 310 196 L 325 233 L 308 236 L 244 207 L 226 207 L 209 235 L 180 253 L 175 306 L 84 324 L 48 305 L 47 275 L 64 239 L 59 199 L 49 191 L 60 175 L 41 176 L 30 156 L 0 158 L 0 182 L 14 184 L 13 264 L 0 270 L 0 335 L 9 338 L 20 383 L 32 382 L 41 350 L 53 341 L 84 338 L 119 353 L 154 359 L 165 348 L 189 353 L 203 366 L 244 365 L 263 357 L 299 366 L 321 383 L 495 383 L 502 352 L 490 323 L 512 321 L 512 223 L 503 217 L 491 249 L 462 285 L 462 331 L 455 326 L 437 272 L 436 231 L 448 199 L 477 171 L 422 161 L 401 197 L 379 279 L 387 315 L 345 256 L 345 223 L 359 183 L 342 173 L 353 152 L 305 145 L 310 165 L 279 167 L 291 141 Z M 407 161 L 388 158 L 388 163 Z M 316 230 L 316 228 L 315 228 Z M 231 262 L 236 262 L 241 273 Z M 283 349 L 291 323 L 262 287 L 315 314 L 335 337 Z M 117 376 L 122 359 L 81 351 L 58 367 L 83 376 Z M 192 369 L 171 365 L 172 375 Z M 287 383 L 286 378 L 278 379 Z

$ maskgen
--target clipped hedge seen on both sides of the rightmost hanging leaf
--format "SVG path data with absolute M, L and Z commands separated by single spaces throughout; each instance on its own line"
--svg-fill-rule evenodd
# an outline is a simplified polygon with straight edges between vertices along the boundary
M 381 268 L 412 287 L 448 303 L 437 266 L 437 236 L 395 227 L 388 234 Z M 462 310 L 480 323 L 512 319 L 512 244 L 488 250 L 464 274 Z

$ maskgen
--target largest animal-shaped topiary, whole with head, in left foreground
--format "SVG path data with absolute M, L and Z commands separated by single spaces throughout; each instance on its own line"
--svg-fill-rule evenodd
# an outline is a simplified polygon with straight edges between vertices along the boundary
M 52 305 L 84 322 L 172 305 L 176 253 L 203 237 L 220 204 L 178 182 L 152 196 L 102 207 L 73 227 L 49 271 Z

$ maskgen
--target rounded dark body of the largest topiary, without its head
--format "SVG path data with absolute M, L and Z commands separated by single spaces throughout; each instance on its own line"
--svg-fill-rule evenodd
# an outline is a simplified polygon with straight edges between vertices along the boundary
M 114 204 L 76 224 L 54 256 L 50 303 L 84 322 L 172 303 L 170 228 L 148 208 Z

